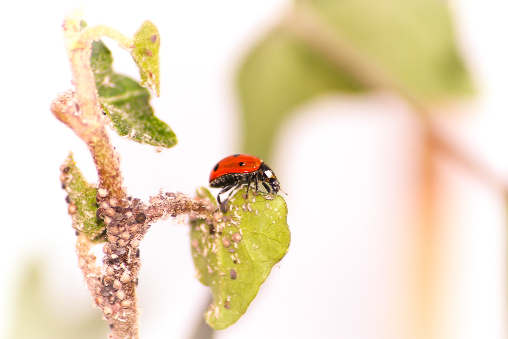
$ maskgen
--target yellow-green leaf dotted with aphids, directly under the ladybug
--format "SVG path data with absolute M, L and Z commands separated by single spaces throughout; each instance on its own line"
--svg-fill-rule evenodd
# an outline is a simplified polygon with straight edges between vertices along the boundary
M 273 265 L 289 249 L 284 199 L 250 193 L 246 201 L 245 193 L 239 190 L 230 199 L 229 211 L 216 226 L 211 228 L 204 220 L 191 223 L 194 264 L 199 280 L 213 295 L 205 320 L 217 330 L 231 326 L 245 313 Z

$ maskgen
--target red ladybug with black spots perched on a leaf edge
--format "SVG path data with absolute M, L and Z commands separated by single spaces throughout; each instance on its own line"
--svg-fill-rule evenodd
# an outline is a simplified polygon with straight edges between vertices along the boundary
M 238 153 L 219 161 L 210 172 L 209 181 L 211 188 L 222 188 L 217 194 L 219 206 L 221 194 L 245 183 L 247 194 L 252 182 L 255 183 L 256 191 L 259 191 L 260 183 L 268 193 L 276 194 L 280 190 L 280 184 L 270 167 L 263 160 L 248 154 Z

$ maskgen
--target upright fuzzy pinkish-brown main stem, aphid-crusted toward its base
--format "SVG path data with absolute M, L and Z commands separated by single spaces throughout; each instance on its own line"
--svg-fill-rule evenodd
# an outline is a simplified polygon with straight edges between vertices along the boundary
M 122 47 L 127 47 L 131 40 L 105 26 L 82 30 L 81 18 L 81 11 L 74 11 L 62 25 L 75 91 L 61 93 L 51 104 L 51 111 L 88 146 L 99 175 L 100 190 L 97 199 L 101 206 L 115 201 L 108 208 L 113 211 L 113 207 L 118 207 L 114 213 L 120 219 L 115 219 L 115 226 L 118 227 L 112 227 L 111 222 L 106 223 L 108 242 L 104 246 L 104 271 L 96 266 L 96 258 L 90 252 L 92 243 L 82 233 L 78 235 L 76 243 L 78 266 L 83 272 L 94 306 L 103 311 L 105 319 L 110 323 L 108 337 L 137 339 L 139 309 L 135 289 L 141 267 L 137 248 L 149 225 L 143 221 L 138 222 L 136 217 L 142 215 L 142 212 L 136 208 L 137 203 L 133 204 L 132 199 L 126 199 L 122 188 L 120 161 L 106 133 L 90 65 L 92 42 L 99 36 L 118 39 Z M 104 215 L 104 208 L 99 212 Z M 112 228 L 116 231 L 111 232 Z M 128 228 L 129 232 L 126 231 Z

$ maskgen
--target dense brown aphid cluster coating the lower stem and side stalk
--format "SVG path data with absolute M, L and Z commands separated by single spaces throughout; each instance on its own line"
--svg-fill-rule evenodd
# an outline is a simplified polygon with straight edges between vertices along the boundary
M 62 188 L 68 189 L 70 167 L 61 168 Z M 135 287 L 141 267 L 139 245 L 148 223 L 178 215 L 188 215 L 190 219 L 204 218 L 212 223 L 221 220 L 220 214 L 214 214 L 215 206 L 209 199 L 191 199 L 182 193 L 160 192 L 150 197 L 147 206 L 132 197 L 116 198 L 105 188 L 99 188 L 96 194 L 97 211 L 90 211 L 89 217 L 102 219 L 106 230 L 100 241 L 103 246 L 104 266 L 97 267 L 96 257 L 91 253 L 93 242 L 81 232 L 77 206 L 67 196 L 68 210 L 73 217 L 73 226 L 77 230 L 78 266 L 85 277 L 85 285 L 92 294 L 92 303 L 103 311 L 114 333 L 113 337 L 137 337 L 137 307 Z M 110 333 L 110 334 L 111 334 Z

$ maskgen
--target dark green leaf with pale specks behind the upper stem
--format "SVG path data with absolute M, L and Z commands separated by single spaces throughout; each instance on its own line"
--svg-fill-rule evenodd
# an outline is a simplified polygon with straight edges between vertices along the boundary
M 153 114 L 148 90 L 129 77 L 113 73 L 111 52 L 102 41 L 93 42 L 90 63 L 99 100 L 118 135 L 158 147 L 176 145 L 171 128 Z

